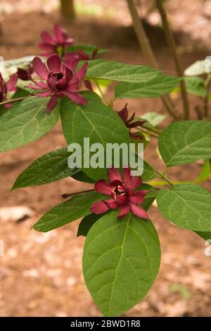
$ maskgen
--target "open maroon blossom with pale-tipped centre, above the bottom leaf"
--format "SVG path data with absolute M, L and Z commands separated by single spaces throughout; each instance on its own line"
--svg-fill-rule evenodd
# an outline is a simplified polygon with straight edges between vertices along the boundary
M 135 191 L 141 185 L 141 176 L 131 176 L 129 168 L 123 168 L 124 181 L 120 171 L 115 168 L 108 169 L 108 182 L 100 179 L 94 188 L 98 193 L 106 194 L 108 200 L 102 200 L 91 205 L 91 212 L 103 214 L 110 209 L 120 210 L 118 217 L 124 217 L 130 211 L 143 219 L 148 218 L 146 210 L 143 210 L 141 203 L 148 191 Z

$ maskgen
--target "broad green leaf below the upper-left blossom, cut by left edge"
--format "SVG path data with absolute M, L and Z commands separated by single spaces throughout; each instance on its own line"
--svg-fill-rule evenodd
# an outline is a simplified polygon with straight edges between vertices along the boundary
M 1 115 L 0 152 L 20 147 L 44 136 L 56 125 L 59 103 L 51 114 L 46 114 L 48 98 L 28 97 Z

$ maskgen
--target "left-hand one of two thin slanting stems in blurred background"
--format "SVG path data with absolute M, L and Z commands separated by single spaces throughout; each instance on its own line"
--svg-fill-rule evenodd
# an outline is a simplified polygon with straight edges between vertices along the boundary
M 129 12 L 132 16 L 134 30 L 136 32 L 136 37 L 139 41 L 139 45 L 141 47 L 143 55 L 145 56 L 146 61 L 148 61 L 149 66 L 152 66 L 153 68 L 158 68 L 158 63 L 155 59 L 153 49 L 148 40 L 148 37 L 146 36 L 146 32 L 143 28 L 143 24 L 141 23 L 141 19 L 139 18 L 139 13 L 136 10 L 136 6 L 134 5 L 134 0 L 127 0 L 127 5 L 129 8 Z M 170 97 L 168 95 L 164 95 L 160 98 L 170 116 L 172 116 L 173 119 L 177 119 L 177 113 L 175 112 Z

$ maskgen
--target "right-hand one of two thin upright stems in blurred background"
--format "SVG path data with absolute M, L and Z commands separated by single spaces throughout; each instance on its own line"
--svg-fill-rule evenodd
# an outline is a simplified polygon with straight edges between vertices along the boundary
M 181 64 L 179 61 L 179 55 L 177 53 L 176 43 L 174 40 L 174 36 L 172 34 L 172 30 L 170 29 L 170 24 L 167 20 L 167 14 L 165 12 L 165 8 L 162 4 L 162 0 L 156 0 L 156 3 L 157 3 L 158 11 L 160 13 L 160 17 L 162 19 L 162 26 L 165 31 L 165 37 L 169 44 L 170 51 L 172 52 L 172 56 L 174 59 L 174 65 L 177 70 L 177 75 L 179 77 L 183 77 L 184 72 L 181 68 Z M 189 110 L 188 95 L 186 92 L 186 85 L 185 85 L 184 80 L 181 80 L 181 82 L 180 82 L 180 89 L 181 89 L 181 97 L 182 97 L 182 101 L 183 101 L 184 119 L 189 119 L 190 110 Z

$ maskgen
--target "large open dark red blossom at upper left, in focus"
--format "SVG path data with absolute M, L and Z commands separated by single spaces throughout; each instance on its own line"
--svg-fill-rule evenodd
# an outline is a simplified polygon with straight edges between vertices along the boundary
M 65 61 L 61 61 L 57 54 L 52 55 L 46 64 L 34 57 L 32 64 L 34 72 L 44 81 L 32 80 L 35 85 L 27 85 L 27 88 L 42 90 L 37 92 L 37 97 L 49 97 L 51 99 L 47 104 L 47 113 L 51 112 L 59 97 L 67 96 L 76 104 L 87 104 L 87 100 L 79 94 L 79 88 L 82 80 L 87 73 L 88 64 L 85 63 L 78 71 L 75 71 L 79 62 L 79 56 L 76 53 L 65 54 Z

